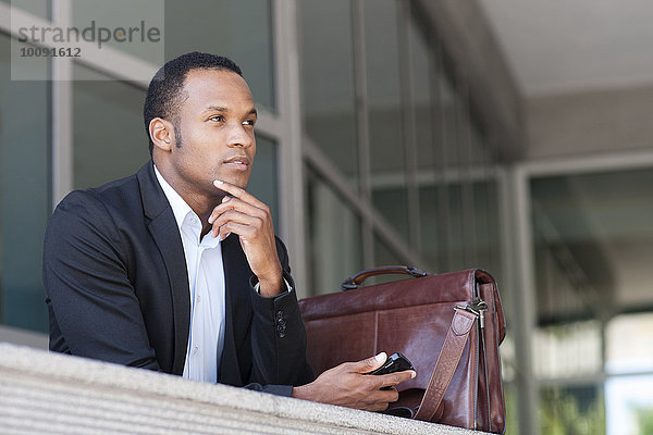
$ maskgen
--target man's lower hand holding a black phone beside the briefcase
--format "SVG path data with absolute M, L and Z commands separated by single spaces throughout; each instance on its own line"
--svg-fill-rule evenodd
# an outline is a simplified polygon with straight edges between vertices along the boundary
M 399 398 L 394 386 L 417 374 L 412 370 L 384 375 L 364 374 L 379 369 L 386 358 L 385 352 L 381 352 L 358 362 L 340 364 L 325 371 L 310 384 L 294 387 L 292 397 L 366 411 L 383 411 L 390 402 Z M 390 389 L 381 389 L 383 387 Z

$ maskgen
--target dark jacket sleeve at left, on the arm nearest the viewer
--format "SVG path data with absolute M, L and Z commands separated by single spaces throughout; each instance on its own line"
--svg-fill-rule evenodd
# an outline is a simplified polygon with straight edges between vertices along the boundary
M 89 192 L 69 195 L 45 236 L 51 350 L 160 370 L 125 264 L 104 206 Z

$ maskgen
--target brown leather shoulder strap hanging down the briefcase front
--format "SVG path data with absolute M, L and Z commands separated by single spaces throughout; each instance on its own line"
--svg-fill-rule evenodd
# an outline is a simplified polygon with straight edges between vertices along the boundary
M 469 339 L 469 334 L 473 322 L 478 315 L 473 312 L 466 311 L 463 309 L 456 309 L 454 312 L 454 319 L 442 345 L 442 351 L 435 362 L 435 369 L 429 381 L 429 386 L 424 391 L 419 409 L 415 414 L 415 419 L 422 421 L 433 421 L 433 417 L 436 417 L 440 405 L 446 389 L 448 388 L 456 368 L 460 362 L 463 350 Z M 440 410 L 441 413 L 443 411 Z

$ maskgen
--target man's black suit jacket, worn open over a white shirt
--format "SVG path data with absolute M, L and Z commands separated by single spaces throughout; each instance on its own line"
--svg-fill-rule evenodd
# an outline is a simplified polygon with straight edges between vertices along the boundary
M 284 277 L 287 252 L 276 239 Z M 224 349 L 219 382 L 289 395 L 312 380 L 295 291 L 263 298 L 237 235 L 222 243 Z M 44 248 L 50 349 L 181 375 L 190 296 L 182 239 L 152 162 L 75 190 L 54 210 Z

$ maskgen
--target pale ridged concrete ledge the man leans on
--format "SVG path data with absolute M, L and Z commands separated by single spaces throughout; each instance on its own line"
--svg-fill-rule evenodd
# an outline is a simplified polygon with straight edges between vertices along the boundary
M 478 432 L 0 343 L 2 434 Z

